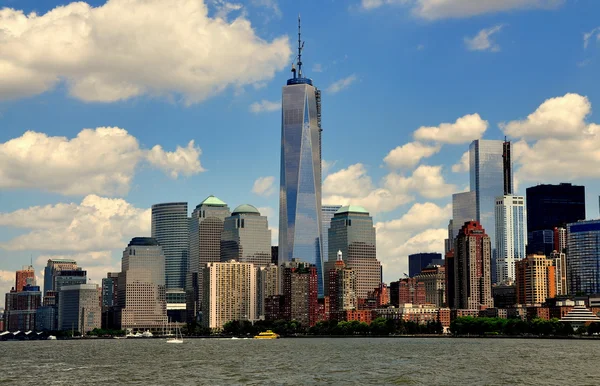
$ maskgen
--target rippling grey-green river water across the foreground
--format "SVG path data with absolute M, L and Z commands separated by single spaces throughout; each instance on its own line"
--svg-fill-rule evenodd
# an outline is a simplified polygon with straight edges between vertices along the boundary
M 448 338 L 0 343 L 0 384 L 597 385 L 600 341 Z

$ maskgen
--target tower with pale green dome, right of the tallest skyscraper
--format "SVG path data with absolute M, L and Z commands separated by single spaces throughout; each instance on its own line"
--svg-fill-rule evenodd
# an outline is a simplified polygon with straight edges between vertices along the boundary
M 381 264 L 377 260 L 373 219 L 365 208 L 344 206 L 333 216 L 329 228 L 330 262 L 336 260 L 338 251 L 356 274 L 356 295 L 366 299 L 381 283 Z

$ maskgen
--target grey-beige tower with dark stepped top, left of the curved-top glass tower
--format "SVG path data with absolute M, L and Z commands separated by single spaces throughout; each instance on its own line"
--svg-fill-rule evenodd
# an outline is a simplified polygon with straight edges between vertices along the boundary
M 134 237 L 123 251 L 118 300 L 120 328 L 160 331 L 164 327 L 165 255 L 156 239 Z

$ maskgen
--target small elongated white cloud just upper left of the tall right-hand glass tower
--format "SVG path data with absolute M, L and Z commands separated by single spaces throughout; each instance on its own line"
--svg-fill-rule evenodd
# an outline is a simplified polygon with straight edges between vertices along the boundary
M 414 133 L 418 141 L 434 141 L 449 144 L 469 143 L 480 139 L 488 128 L 488 121 L 479 114 L 465 115 L 454 123 L 442 123 L 435 127 L 422 126 Z

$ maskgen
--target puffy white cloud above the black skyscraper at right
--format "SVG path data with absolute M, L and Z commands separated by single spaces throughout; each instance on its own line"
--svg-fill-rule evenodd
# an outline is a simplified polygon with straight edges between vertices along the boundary
M 591 111 L 587 97 L 566 94 L 546 100 L 527 119 L 502 123 L 500 127 L 515 138 L 568 138 L 585 133 L 585 118 Z

